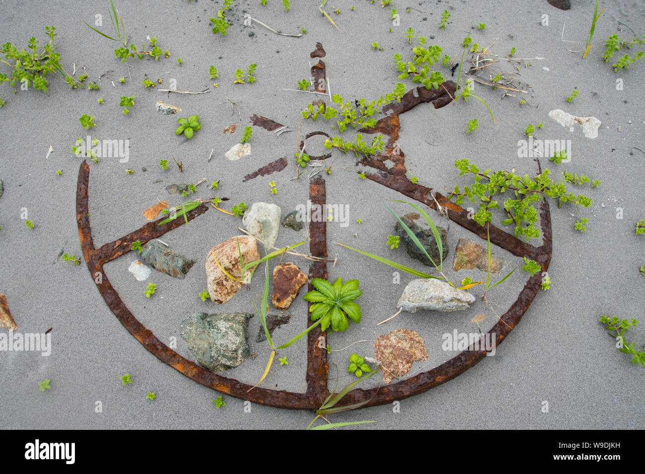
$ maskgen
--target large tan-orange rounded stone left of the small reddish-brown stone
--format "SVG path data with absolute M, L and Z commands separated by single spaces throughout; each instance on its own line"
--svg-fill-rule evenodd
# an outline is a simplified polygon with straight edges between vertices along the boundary
M 238 242 L 239 250 L 237 248 Z M 208 252 L 206 257 L 206 289 L 213 303 L 221 304 L 230 300 L 244 286 L 244 281 L 250 279 L 253 269 L 249 268 L 244 274 L 242 273 L 240 253 L 242 253 L 245 264 L 260 259 L 255 239 L 248 235 L 231 237 L 228 241 L 214 246 Z M 215 259 L 235 280 L 222 272 Z

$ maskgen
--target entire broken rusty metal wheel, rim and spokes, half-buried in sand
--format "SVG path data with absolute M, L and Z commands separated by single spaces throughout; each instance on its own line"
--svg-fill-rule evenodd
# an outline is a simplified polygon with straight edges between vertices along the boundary
M 319 48 L 322 49 L 322 46 Z M 324 83 L 324 63 L 321 65 L 316 64 L 312 68 L 315 69 L 319 84 Z M 321 74 L 322 73 L 322 74 Z M 320 79 L 323 79 L 321 81 Z M 317 88 L 319 86 L 317 84 Z M 426 90 L 425 88 L 416 88 L 415 90 L 408 91 L 401 99 L 401 102 L 384 107 L 383 112 L 387 113 L 386 117 L 378 121 L 373 129 L 361 130 L 363 133 L 382 133 L 388 137 L 388 143 L 385 149 L 379 155 L 374 157 L 364 158 L 360 161 L 364 166 L 373 168 L 373 172 L 366 173 L 366 177 L 375 183 L 382 184 L 392 190 L 395 190 L 402 195 L 406 195 L 415 201 L 422 202 L 426 206 L 437 210 L 437 202 L 442 208 L 448 208 L 448 217 L 453 221 L 469 230 L 482 239 L 486 239 L 486 228 L 477 224 L 472 219 L 468 219 L 468 212 L 462 209 L 457 204 L 449 201 L 440 193 L 434 194 L 432 197 L 432 188 L 426 188 L 421 184 L 410 182 L 406 178 L 406 167 L 404 161 L 404 154 L 397 149 L 396 141 L 399 138 L 399 115 L 412 110 L 415 106 L 422 103 L 432 103 L 435 108 L 441 108 L 452 101 L 455 95 L 457 84 L 452 81 L 446 81 L 441 85 L 439 90 Z M 324 90 L 324 87 L 321 88 Z M 263 126 L 266 124 L 268 130 L 281 126 L 265 117 L 255 117 L 257 125 Z M 253 119 L 253 117 L 252 117 Z M 308 136 L 326 135 L 324 132 L 313 132 Z M 392 166 L 388 167 L 386 163 L 389 161 Z M 283 169 L 283 163 L 275 165 L 275 168 Z M 539 163 L 538 163 L 539 166 Z M 261 172 L 254 175 L 247 175 L 244 181 L 252 179 L 257 175 L 262 175 L 264 171 L 268 172 L 269 168 L 261 168 Z M 278 170 L 271 170 L 278 171 Z M 174 350 L 168 348 L 163 342 L 159 341 L 157 337 L 137 320 L 137 318 L 128 310 L 126 305 L 121 301 L 119 294 L 114 290 L 110 281 L 105 275 L 103 265 L 109 261 L 120 257 L 124 253 L 129 252 L 130 246 L 134 241 L 141 241 L 145 243 L 151 239 L 161 237 L 164 233 L 181 226 L 184 223 L 183 219 L 175 219 L 167 224 L 161 226 L 157 225 L 158 222 L 148 222 L 148 224 L 135 230 L 134 232 L 124 235 L 120 239 L 104 244 L 101 248 L 95 248 L 92 241 L 92 230 L 90 228 L 90 214 L 88 209 L 88 185 L 90 181 L 90 167 L 84 161 L 79 169 L 79 177 L 77 182 L 76 194 L 76 218 L 79 228 L 79 235 L 81 238 L 81 248 L 83 256 L 87 263 L 92 279 L 94 279 L 99 293 L 103 300 L 108 305 L 108 308 L 119 319 L 121 324 L 135 337 L 143 346 L 153 353 L 157 359 L 163 361 L 165 364 L 180 371 L 186 377 L 199 382 L 200 384 L 210 387 L 226 395 L 236 397 L 238 399 L 250 400 L 253 403 L 259 403 L 277 408 L 290 408 L 290 409 L 306 409 L 315 410 L 319 408 L 324 399 L 329 395 L 328 391 L 328 372 L 329 366 L 327 363 L 327 353 L 324 347 L 326 344 L 320 344 L 320 338 L 325 337 L 324 333 L 319 327 L 310 331 L 307 335 L 307 372 L 306 383 L 307 390 L 305 393 L 293 393 L 285 390 L 269 390 L 267 388 L 257 387 L 250 390 L 252 386 L 239 382 L 235 379 L 223 377 L 217 373 L 213 373 L 204 369 L 203 367 L 195 364 L 191 360 L 186 359 L 179 355 Z M 317 175 L 310 181 L 309 199 L 312 204 L 324 204 L 326 202 L 325 181 L 321 175 Z M 435 201 L 436 199 L 436 201 Z M 186 214 L 188 220 L 195 219 L 208 210 L 208 207 L 201 204 L 191 212 Z M 310 216 L 311 217 L 311 216 Z M 310 219 L 311 221 L 312 219 Z M 540 264 L 542 271 L 546 272 L 551 261 L 551 217 L 549 204 L 546 200 L 542 200 L 540 206 L 540 222 L 542 228 L 542 246 L 535 247 L 526 242 L 519 241 L 509 233 L 503 230 L 490 226 L 490 241 L 508 250 L 519 257 L 528 257 L 535 260 Z M 327 239 L 326 239 L 326 221 L 310 222 L 310 253 L 317 257 L 325 257 L 327 255 Z M 99 280 L 95 278 L 96 273 L 100 272 L 102 278 Z M 313 262 L 309 268 L 309 278 L 327 278 L 326 261 Z M 100 282 L 97 282 L 100 281 Z M 511 304 L 510 308 L 504 315 L 501 316 L 500 321 L 491 328 L 488 333 L 495 340 L 495 346 L 499 345 L 520 321 L 524 312 L 528 309 L 529 305 L 537 295 L 541 288 L 541 273 L 536 273 L 533 277 L 526 281 L 524 288 L 520 292 L 517 300 Z M 313 290 L 309 284 L 309 290 Z M 308 315 L 305 321 L 308 322 Z M 303 328 L 304 329 L 304 328 Z M 370 400 L 364 407 L 375 406 L 381 404 L 391 403 L 393 400 L 401 400 L 412 395 L 417 395 L 430 388 L 440 385 L 450 379 L 454 379 L 470 367 L 474 366 L 482 360 L 486 355 L 484 350 L 466 350 L 452 359 L 444 362 L 440 366 L 433 368 L 422 373 L 419 373 L 408 379 L 400 380 L 399 382 L 389 385 L 373 388 L 370 390 L 362 390 L 356 388 L 350 391 L 339 403 L 338 406 L 344 406 L 364 400 Z M 250 390 L 250 391 L 249 391 Z

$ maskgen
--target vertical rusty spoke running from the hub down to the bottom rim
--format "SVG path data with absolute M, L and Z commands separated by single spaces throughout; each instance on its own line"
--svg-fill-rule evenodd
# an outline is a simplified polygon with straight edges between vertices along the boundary
M 309 184 L 309 199 L 312 202 L 312 210 L 310 211 L 309 219 L 309 232 L 311 240 L 309 241 L 309 252 L 313 257 L 326 257 L 327 256 L 327 228 L 326 219 L 313 222 L 312 215 L 313 206 L 323 206 L 325 204 L 327 195 L 324 179 L 321 175 L 315 176 Z M 309 291 L 315 290 L 311 284 L 312 279 L 323 278 L 327 279 L 327 262 L 318 261 L 313 262 L 309 267 Z M 307 305 L 307 309 L 311 308 L 312 303 Z M 307 312 L 306 325 L 308 327 L 312 324 Z M 304 328 L 303 328 L 304 329 Z M 326 337 L 324 332 L 321 331 L 320 326 L 316 326 L 307 334 L 307 391 L 306 396 L 312 400 L 315 408 L 319 408 L 324 400 L 329 395 L 327 388 L 327 377 L 329 374 L 329 365 L 327 363 L 327 346 Z

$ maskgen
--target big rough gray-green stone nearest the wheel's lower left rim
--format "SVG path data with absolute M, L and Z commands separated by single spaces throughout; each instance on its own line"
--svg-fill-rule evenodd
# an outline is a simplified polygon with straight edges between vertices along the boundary
M 181 322 L 181 337 L 202 367 L 221 372 L 248 359 L 248 320 L 252 313 L 194 313 Z

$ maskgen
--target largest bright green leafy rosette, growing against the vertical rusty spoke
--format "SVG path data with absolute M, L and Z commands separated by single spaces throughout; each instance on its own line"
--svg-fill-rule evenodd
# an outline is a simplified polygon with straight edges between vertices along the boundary
M 358 280 L 348 280 L 342 284 L 339 278 L 332 285 L 322 278 L 314 278 L 312 285 L 315 290 L 303 298 L 313 303 L 309 308 L 312 321 L 322 318 L 321 330 L 327 330 L 330 325 L 334 331 L 346 330 L 349 327 L 348 316 L 356 324 L 361 322 L 361 308 L 352 302 L 362 295 Z

